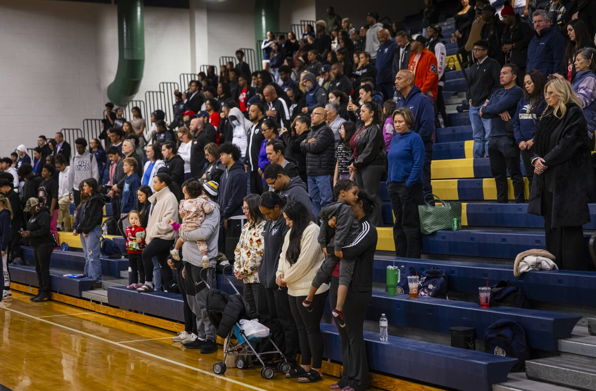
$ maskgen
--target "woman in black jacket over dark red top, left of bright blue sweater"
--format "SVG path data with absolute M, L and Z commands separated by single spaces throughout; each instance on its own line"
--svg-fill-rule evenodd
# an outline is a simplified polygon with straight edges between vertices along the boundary
M 365 102 L 360 107 L 362 126 L 350 139 L 350 147 L 354 151 L 354 162 L 348 166 L 350 173 L 356 172 L 356 183 L 376 200 L 371 223 L 379 226 L 381 207 L 378 198 L 378 184 L 385 172 L 387 152 L 381 124 L 381 108 L 374 102 Z

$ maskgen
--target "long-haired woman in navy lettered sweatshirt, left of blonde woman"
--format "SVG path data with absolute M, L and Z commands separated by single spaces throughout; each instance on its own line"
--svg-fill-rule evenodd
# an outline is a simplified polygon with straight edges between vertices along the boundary
M 534 144 L 534 133 L 536 124 L 545 107 L 544 85 L 546 80 L 540 71 L 535 69 L 526 73 L 523 79 L 523 98 L 517 104 L 516 114 L 513 116 L 513 135 L 522 153 L 522 161 L 526 167 L 527 182 L 532 191 L 532 177 L 534 166 L 530 162 L 532 152 L 530 148 Z

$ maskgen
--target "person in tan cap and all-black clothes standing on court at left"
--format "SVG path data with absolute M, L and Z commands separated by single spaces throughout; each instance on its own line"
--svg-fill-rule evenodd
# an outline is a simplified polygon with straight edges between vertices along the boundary
M 54 236 L 49 230 L 49 210 L 35 197 L 27 199 L 23 210 L 29 212 L 31 218 L 27 221 L 27 230 L 21 231 L 21 236 L 29 237 L 29 245 L 33 247 L 33 260 L 39 284 L 38 295 L 33 296 L 30 301 L 48 301 L 49 258 L 52 257 L 52 251 L 56 246 Z

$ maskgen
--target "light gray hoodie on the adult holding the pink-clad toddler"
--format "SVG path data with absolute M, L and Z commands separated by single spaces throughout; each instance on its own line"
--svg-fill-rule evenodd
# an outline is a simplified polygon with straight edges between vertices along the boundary
M 179 230 L 178 233 L 186 242 L 182 244 L 182 258 L 191 265 L 203 267 L 203 254 L 197 247 L 197 240 L 207 242 L 207 257 L 209 265 L 215 267 L 215 258 L 218 256 L 219 239 L 219 205 L 212 200 L 210 204 L 215 205 L 211 213 L 205 215 L 205 220 L 200 227 L 193 231 Z

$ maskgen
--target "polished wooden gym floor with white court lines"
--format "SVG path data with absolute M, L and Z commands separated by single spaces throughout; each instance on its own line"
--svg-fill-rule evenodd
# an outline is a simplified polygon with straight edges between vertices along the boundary
M 0 384 L 11 390 L 328 390 L 337 378 L 313 384 L 260 377 L 258 368 L 212 365 L 223 358 L 172 343 L 175 333 L 57 301 L 32 303 L 12 290 L 0 302 Z M 410 383 L 411 384 L 411 383 Z M 414 386 L 414 384 L 411 384 Z M 0 386 L 0 389 L 2 389 Z

